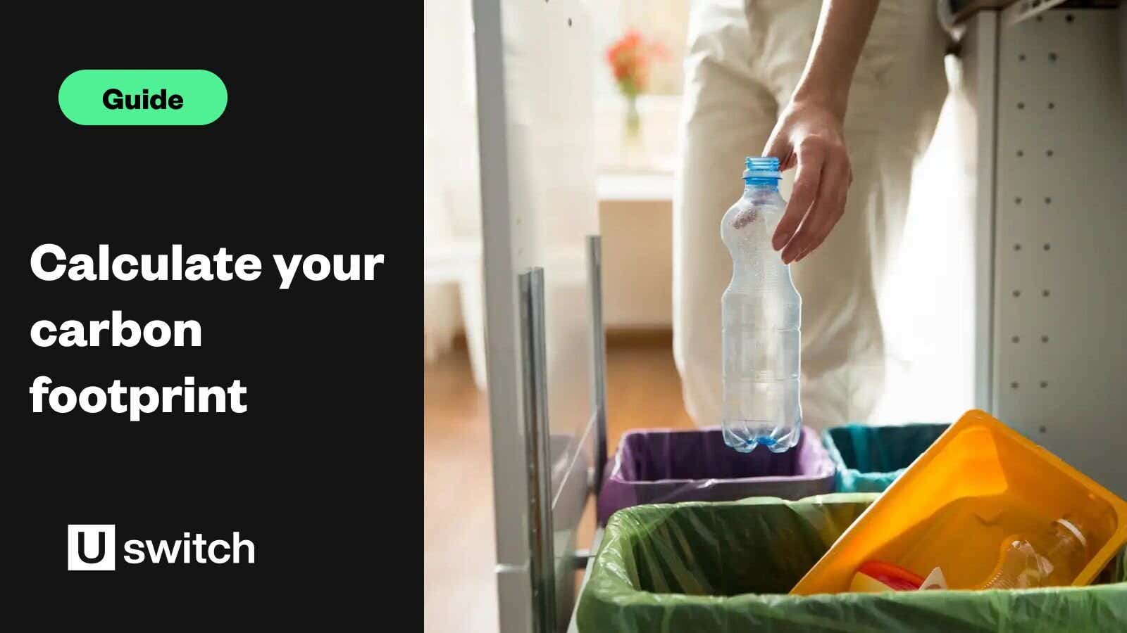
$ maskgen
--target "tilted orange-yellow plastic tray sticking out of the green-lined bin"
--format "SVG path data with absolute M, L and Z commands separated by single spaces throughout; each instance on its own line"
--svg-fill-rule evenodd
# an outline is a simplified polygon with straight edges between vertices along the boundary
M 1093 554 L 1073 581 L 1089 585 L 1127 543 L 1127 502 L 990 413 L 967 411 L 833 544 L 791 590 L 849 589 L 869 560 L 921 577 L 935 567 L 952 588 L 984 580 L 1002 541 L 1071 514 Z

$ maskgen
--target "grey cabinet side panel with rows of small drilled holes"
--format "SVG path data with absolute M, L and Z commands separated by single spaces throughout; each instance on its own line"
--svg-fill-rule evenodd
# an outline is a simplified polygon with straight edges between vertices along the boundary
M 1127 116 L 1113 10 L 999 33 L 993 412 L 1127 496 Z

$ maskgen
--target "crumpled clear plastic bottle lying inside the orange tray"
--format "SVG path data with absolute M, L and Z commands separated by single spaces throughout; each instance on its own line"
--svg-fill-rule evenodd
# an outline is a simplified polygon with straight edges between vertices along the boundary
M 1072 585 L 1088 561 L 1088 536 L 1075 518 L 1066 516 L 1039 534 L 1006 538 L 997 565 L 977 589 Z

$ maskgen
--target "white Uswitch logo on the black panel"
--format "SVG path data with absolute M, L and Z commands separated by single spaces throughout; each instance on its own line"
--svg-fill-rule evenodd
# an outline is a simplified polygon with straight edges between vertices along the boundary
M 113 571 L 117 569 L 117 526 L 66 526 L 66 569 L 70 571 Z M 127 564 L 145 561 L 153 564 L 255 564 L 255 543 L 234 532 L 231 540 L 204 538 L 184 533 L 176 541 L 131 538 L 123 546 Z

